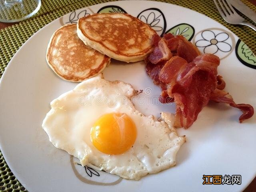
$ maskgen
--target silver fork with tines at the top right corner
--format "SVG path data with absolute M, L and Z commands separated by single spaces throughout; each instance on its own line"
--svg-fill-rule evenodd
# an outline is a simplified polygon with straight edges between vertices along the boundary
M 217 1 L 219 2 L 219 4 Z M 244 18 L 242 18 L 240 15 L 238 15 L 238 13 L 236 12 L 236 10 L 234 10 L 234 8 L 228 2 L 228 0 L 227 1 L 214 0 L 214 3 L 216 5 L 218 11 L 220 12 L 220 15 L 226 22 L 228 22 L 230 24 L 234 24 L 234 25 L 246 25 L 256 31 L 256 26 L 254 26 L 251 23 L 246 22 L 246 20 L 244 20 Z M 225 6 L 225 8 L 223 5 Z

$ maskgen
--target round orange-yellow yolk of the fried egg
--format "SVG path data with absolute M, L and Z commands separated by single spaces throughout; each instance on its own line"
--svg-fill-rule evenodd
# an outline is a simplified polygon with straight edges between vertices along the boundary
M 125 113 L 108 113 L 101 116 L 90 132 L 92 144 L 106 154 L 122 154 L 136 140 L 136 126 Z

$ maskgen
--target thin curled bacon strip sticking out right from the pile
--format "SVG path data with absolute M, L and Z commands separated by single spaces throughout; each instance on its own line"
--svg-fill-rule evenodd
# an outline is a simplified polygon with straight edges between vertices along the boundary
M 239 122 L 242 123 L 244 120 L 251 118 L 254 114 L 254 109 L 249 104 L 236 104 L 230 94 L 228 92 L 215 89 L 210 96 L 210 100 L 218 102 L 218 103 L 226 103 L 234 108 L 240 109 L 243 114 L 239 117 Z

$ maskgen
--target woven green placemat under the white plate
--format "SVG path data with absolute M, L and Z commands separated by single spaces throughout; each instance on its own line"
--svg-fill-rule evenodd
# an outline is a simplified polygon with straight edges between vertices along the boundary
M 22 46 L 26 40 L 36 31 L 55 20 L 76 9 L 80 9 L 93 4 L 110 2 L 112 0 L 42 0 L 42 6 L 39 12 L 32 18 L 22 21 L 13 26 L 0 30 L 0 77 L 8 62 L 15 52 Z M 161 1 L 161 0 L 159 0 Z M 226 26 L 242 41 L 244 41 L 252 52 L 256 53 L 256 32 L 246 26 L 233 26 L 221 18 L 216 6 L 212 0 L 163 0 L 186 8 L 190 8 L 206 16 L 216 20 L 220 24 Z M 256 6 L 250 4 L 247 0 L 242 0 L 244 4 L 249 6 L 256 12 Z M 251 22 L 249 19 L 246 19 Z M 12 174 L 10 168 L 6 164 L 2 153 L 0 152 L 0 191 L 3 192 L 20 192 L 26 189 L 18 182 Z

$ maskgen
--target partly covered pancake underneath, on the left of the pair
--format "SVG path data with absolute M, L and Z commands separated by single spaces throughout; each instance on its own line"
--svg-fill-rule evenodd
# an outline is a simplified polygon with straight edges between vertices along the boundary
M 86 46 L 77 36 L 76 24 L 56 30 L 48 44 L 46 60 L 64 80 L 82 82 L 96 76 L 109 64 L 110 58 Z

